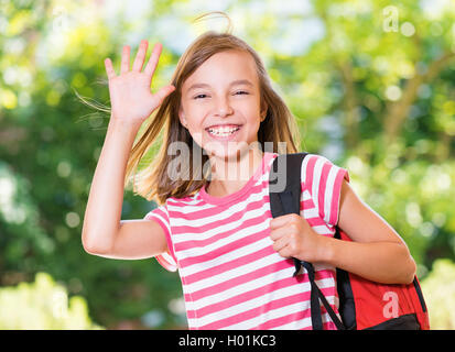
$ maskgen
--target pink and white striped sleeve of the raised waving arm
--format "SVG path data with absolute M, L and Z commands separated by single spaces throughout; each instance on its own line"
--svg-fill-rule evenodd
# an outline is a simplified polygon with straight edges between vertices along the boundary
M 162 205 L 149 211 L 145 220 L 155 220 L 164 231 L 167 241 L 167 253 L 162 253 L 155 256 L 156 261 L 167 271 L 175 272 L 178 268 L 177 260 L 174 253 L 174 245 L 171 238 L 171 222 L 166 205 Z

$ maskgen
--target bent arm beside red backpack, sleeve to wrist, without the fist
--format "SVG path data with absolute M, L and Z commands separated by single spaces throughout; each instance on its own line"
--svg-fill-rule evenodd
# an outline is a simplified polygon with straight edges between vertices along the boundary
M 400 235 L 361 201 L 349 184 L 342 186 L 338 228 L 353 240 L 323 239 L 322 262 L 383 284 L 410 284 L 415 262 Z

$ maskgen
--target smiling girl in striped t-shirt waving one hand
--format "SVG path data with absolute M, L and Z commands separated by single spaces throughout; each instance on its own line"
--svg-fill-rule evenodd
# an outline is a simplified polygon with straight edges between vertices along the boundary
M 272 219 L 270 166 L 279 142 L 280 153 L 299 152 L 299 134 L 247 43 L 205 33 L 156 94 L 150 86 L 162 46 L 154 45 L 142 72 L 147 47 L 142 41 L 132 69 L 123 47 L 120 75 L 105 61 L 111 118 L 84 218 L 88 253 L 154 256 L 178 270 L 189 329 L 311 329 L 307 275 L 292 276 L 292 257 L 315 264 L 335 311 L 335 267 L 380 283 L 412 282 L 415 263 L 404 242 L 356 196 L 347 170 L 323 156 L 310 154 L 295 170 L 301 215 Z M 123 187 L 163 129 L 156 158 L 133 183 L 159 207 L 144 219 L 120 220 Z M 335 226 L 354 242 L 334 239 Z M 323 322 L 335 329 L 327 315 Z

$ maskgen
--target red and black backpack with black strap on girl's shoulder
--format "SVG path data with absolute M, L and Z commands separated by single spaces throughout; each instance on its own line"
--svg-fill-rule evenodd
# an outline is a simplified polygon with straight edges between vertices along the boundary
M 300 215 L 300 170 L 307 153 L 282 154 L 270 170 L 270 208 L 273 218 Z M 283 174 L 283 172 L 286 174 Z M 351 241 L 336 228 L 335 238 Z M 314 330 L 323 329 L 321 302 L 338 330 L 429 330 L 429 315 L 419 279 L 409 285 L 379 284 L 336 268 L 339 316 L 335 314 L 314 280 L 311 263 L 294 258 L 295 273 L 303 266 L 311 283 L 311 318 Z

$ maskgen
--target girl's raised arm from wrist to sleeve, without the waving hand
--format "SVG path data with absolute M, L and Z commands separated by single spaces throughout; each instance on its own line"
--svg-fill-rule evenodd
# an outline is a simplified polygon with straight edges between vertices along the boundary
M 120 220 L 124 172 L 137 132 L 111 117 L 84 217 L 82 241 L 87 253 L 136 260 L 167 250 L 164 232 L 155 221 Z

